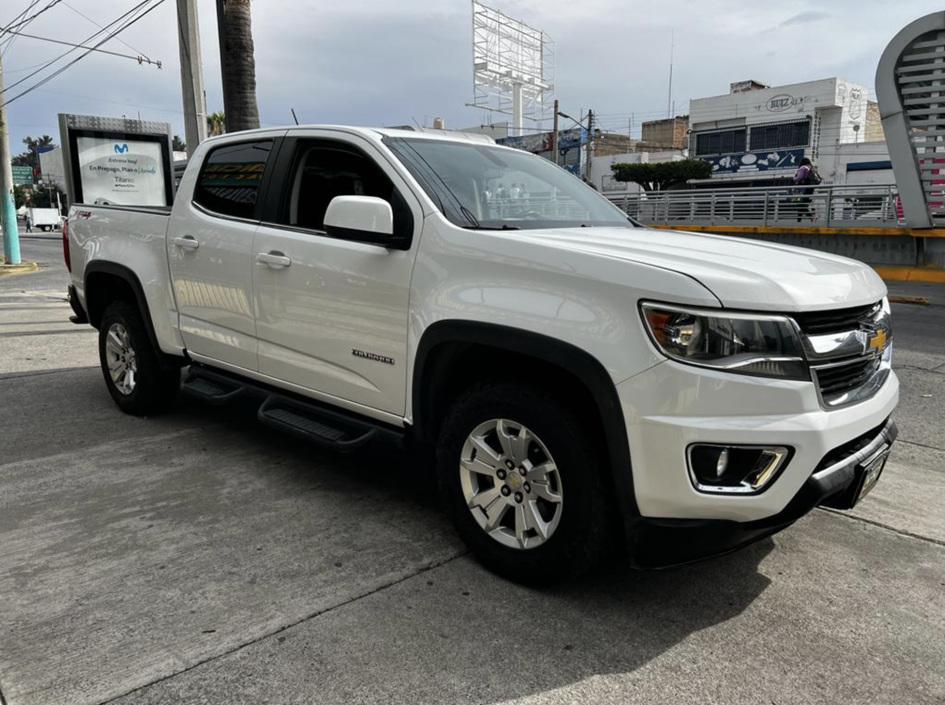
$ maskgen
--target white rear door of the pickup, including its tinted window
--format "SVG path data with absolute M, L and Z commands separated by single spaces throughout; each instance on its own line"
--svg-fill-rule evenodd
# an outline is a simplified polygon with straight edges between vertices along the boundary
M 193 198 L 175 203 L 167 250 L 180 334 L 195 359 L 258 368 L 252 239 L 283 133 L 214 146 L 180 183 Z

